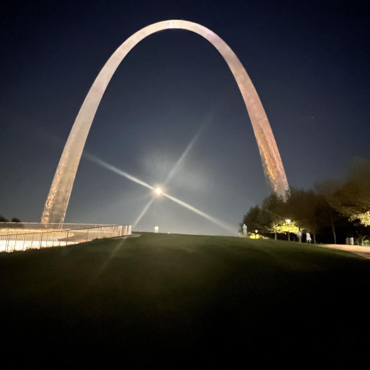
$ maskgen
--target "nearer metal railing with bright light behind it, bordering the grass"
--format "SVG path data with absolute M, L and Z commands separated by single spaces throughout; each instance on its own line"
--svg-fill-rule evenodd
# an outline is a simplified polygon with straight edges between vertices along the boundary
M 131 225 L 0 235 L 0 252 L 66 246 L 124 235 L 131 235 Z

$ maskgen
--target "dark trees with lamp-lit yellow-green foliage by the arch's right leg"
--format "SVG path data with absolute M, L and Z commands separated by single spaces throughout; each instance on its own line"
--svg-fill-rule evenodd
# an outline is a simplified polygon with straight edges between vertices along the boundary
M 356 158 L 344 180 L 326 180 L 313 189 L 291 188 L 286 199 L 275 193 L 243 216 L 248 231 L 275 239 L 287 234 L 310 232 L 314 243 L 344 244 L 353 237 L 357 244 L 369 244 L 370 161 Z

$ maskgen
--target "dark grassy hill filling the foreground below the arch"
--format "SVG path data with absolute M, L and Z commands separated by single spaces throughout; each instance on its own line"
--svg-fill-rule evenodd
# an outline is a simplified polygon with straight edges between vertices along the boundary
M 143 233 L 2 253 L 1 357 L 366 367 L 369 282 L 369 260 L 275 240 Z

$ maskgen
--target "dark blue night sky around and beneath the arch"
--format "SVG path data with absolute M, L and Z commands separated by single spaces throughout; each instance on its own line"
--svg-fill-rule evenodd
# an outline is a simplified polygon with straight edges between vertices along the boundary
M 283 4 L 283 5 L 282 5 Z M 14 2 L 2 11 L 0 214 L 40 221 L 70 129 L 98 72 L 135 31 L 167 19 L 200 23 L 239 57 L 260 96 L 289 184 L 340 178 L 370 157 L 369 17 L 354 2 Z M 145 38 L 102 98 L 85 152 L 229 224 L 268 194 L 236 82 L 218 51 L 185 30 Z M 151 199 L 81 159 L 65 222 L 134 223 Z M 158 198 L 137 229 L 218 234 Z

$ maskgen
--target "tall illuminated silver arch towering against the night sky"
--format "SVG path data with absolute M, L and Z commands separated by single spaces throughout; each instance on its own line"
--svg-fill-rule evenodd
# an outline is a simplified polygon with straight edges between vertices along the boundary
M 120 65 L 123 58 L 142 39 L 152 33 L 169 28 L 189 30 L 201 35 L 225 59 L 239 86 L 240 93 L 248 110 L 266 178 L 271 183 L 276 194 L 285 197 L 289 186 L 275 137 L 256 89 L 242 63 L 240 63 L 238 57 L 225 41 L 208 28 L 189 21 L 168 20 L 151 24 L 134 33 L 111 55 L 98 74 L 78 112 L 67 143 L 65 144 L 45 203 L 41 222 L 64 222 L 73 182 L 92 120 L 94 119 L 95 112 L 98 109 L 105 89 L 118 65 Z

